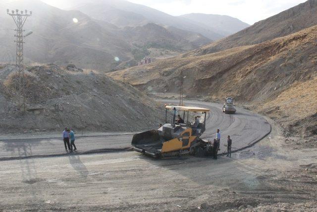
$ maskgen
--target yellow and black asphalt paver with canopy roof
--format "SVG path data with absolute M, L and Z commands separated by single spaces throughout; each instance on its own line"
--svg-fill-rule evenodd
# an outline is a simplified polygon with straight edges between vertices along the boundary
M 158 130 L 150 130 L 133 136 L 132 146 L 135 151 L 159 158 L 182 154 L 194 155 L 199 146 L 206 147 L 208 141 L 200 139 L 200 136 L 206 130 L 206 116 L 209 109 L 168 105 L 165 106 L 165 110 L 166 124 Z M 172 112 L 173 118 L 169 124 L 167 123 L 167 113 L 170 112 Z M 175 123 L 176 113 L 183 117 L 184 124 Z M 191 124 L 189 113 L 194 113 L 202 123 Z M 197 114 L 202 114 L 202 116 Z

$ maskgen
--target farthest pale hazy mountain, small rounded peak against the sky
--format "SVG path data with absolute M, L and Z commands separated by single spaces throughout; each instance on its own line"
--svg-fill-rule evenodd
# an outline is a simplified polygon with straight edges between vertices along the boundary
M 180 15 L 179 17 L 191 20 L 201 27 L 207 29 L 211 28 L 212 31 L 225 36 L 234 34 L 250 26 L 249 24 L 228 15 L 190 13 Z

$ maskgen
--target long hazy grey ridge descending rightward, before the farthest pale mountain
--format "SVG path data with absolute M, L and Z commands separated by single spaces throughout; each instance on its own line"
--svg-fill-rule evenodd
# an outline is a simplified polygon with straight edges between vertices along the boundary
M 186 31 L 199 33 L 211 40 L 217 40 L 227 35 L 227 33 L 222 35 L 215 32 L 214 29 L 212 29 L 212 27 L 208 25 L 202 26 L 201 24 L 194 23 L 194 21 L 190 19 L 184 19 L 180 16 L 172 16 L 167 13 L 161 12 L 157 9 L 142 4 L 132 3 L 126 0 L 93 0 L 90 1 L 90 3 L 83 2 L 84 1 L 76 1 L 74 3 L 74 6 L 71 8 L 83 11 L 84 13 L 96 19 L 108 21 L 120 27 L 137 26 L 142 25 L 144 23 L 152 22 L 166 26 L 176 27 Z M 109 10 L 109 8 L 111 9 Z M 116 14 L 112 11 L 113 8 L 115 8 L 117 12 L 120 11 L 122 17 L 120 17 L 119 20 L 111 18 L 111 16 L 116 17 Z M 126 13 L 131 12 L 137 15 L 136 20 L 126 20 Z M 122 24 L 124 21 L 127 21 L 127 23 Z M 240 28 L 239 30 L 241 29 L 242 28 Z

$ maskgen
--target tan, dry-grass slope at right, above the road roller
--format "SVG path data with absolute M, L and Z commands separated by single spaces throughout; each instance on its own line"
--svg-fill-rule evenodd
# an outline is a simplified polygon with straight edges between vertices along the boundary
M 202 56 L 179 56 L 109 74 L 150 93 L 178 92 L 239 103 L 279 120 L 290 134 L 317 134 L 317 26 L 270 40 Z M 315 118 L 314 118 L 315 117 Z

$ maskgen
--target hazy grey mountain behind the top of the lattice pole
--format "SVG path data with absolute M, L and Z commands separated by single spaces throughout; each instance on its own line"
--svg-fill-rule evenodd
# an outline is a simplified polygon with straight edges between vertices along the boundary
M 24 54 L 26 62 L 56 63 L 58 65 L 76 64 L 88 69 L 111 69 L 117 64 L 114 57 L 128 60 L 130 45 L 101 27 L 97 22 L 79 11 L 64 11 L 39 0 L 10 1 L 0 7 L 28 8 L 33 15 L 28 18 L 25 29 L 33 34 L 25 38 Z M 78 19 L 78 23 L 73 22 Z M 13 29 L 14 22 L 4 12 L 0 15 L 1 27 Z M 15 61 L 14 31 L 0 31 L 0 62 Z

